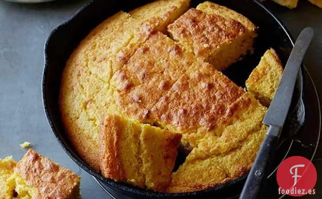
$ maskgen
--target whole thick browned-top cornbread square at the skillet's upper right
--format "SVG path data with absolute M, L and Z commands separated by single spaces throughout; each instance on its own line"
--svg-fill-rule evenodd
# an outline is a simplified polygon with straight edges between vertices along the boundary
M 198 58 L 223 70 L 253 50 L 256 26 L 226 7 L 205 2 L 168 26 L 171 37 Z

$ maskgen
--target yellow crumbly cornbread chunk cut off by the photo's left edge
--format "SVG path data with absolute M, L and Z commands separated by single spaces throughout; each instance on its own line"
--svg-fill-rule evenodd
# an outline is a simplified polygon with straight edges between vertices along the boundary
M 12 156 L 0 159 L 0 198 L 11 199 L 12 192 L 8 191 L 10 187 L 7 185 L 7 179 L 13 174 L 16 162 Z

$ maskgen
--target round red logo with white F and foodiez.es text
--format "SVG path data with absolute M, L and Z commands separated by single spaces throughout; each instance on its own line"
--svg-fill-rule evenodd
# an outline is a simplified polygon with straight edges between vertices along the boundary
M 277 169 L 278 194 L 315 194 L 316 178 L 315 167 L 309 160 L 302 156 L 289 157 Z

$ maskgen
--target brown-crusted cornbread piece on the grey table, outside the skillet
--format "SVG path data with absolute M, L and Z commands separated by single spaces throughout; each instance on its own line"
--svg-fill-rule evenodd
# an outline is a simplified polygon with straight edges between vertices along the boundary
M 17 163 L 15 173 L 36 189 L 32 198 L 79 198 L 79 177 L 49 158 L 29 149 Z

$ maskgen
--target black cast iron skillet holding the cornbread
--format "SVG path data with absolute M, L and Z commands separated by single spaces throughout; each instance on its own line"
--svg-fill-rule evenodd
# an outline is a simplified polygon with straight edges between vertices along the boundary
M 220 198 L 225 197 L 228 193 L 238 193 L 242 189 L 246 176 L 241 176 L 221 186 L 204 191 L 175 194 L 148 191 L 125 183 L 114 182 L 113 180 L 104 178 L 101 174 L 96 173 L 88 167 L 72 148 L 71 144 L 69 144 L 65 136 L 58 107 L 58 95 L 61 74 L 69 55 L 82 38 L 107 17 L 112 16 L 120 10 L 130 11 L 149 2 L 151 1 L 94 0 L 79 10 L 70 20 L 61 24 L 51 32 L 45 45 L 45 67 L 43 73 L 43 103 L 49 125 L 58 142 L 76 164 L 107 186 L 127 195 L 137 198 L 204 198 L 207 195 L 212 195 Z M 197 4 L 202 2 L 204 1 L 192 0 L 191 6 L 196 7 Z M 224 71 L 232 81 L 239 86 L 245 87 L 245 81 L 249 74 L 258 64 L 260 57 L 269 48 L 275 49 L 281 61 L 284 64 L 286 63 L 293 47 L 292 38 L 285 26 L 266 8 L 255 0 L 218 0 L 214 2 L 245 15 L 259 27 L 259 36 L 255 44 L 254 54 L 245 57 L 242 61 L 230 66 Z M 282 142 L 286 141 L 281 144 L 284 147 L 280 147 L 281 149 L 276 153 L 275 165 L 280 163 L 287 151 L 288 138 L 297 133 L 304 124 L 305 106 L 303 102 L 303 84 L 304 80 L 301 70 L 293 96 L 292 109 L 289 112 L 288 121 L 285 125 L 282 138 L 280 139 Z

